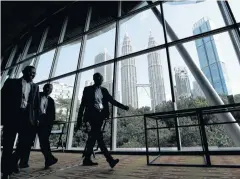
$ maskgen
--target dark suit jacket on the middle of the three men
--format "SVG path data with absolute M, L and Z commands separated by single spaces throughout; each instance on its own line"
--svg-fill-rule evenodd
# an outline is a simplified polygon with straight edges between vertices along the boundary
M 41 97 L 43 96 L 43 92 L 40 92 L 40 100 L 41 100 Z M 41 101 L 40 101 L 41 102 Z M 47 124 L 47 125 L 52 125 L 53 122 L 55 121 L 56 119 L 56 115 L 55 115 L 55 102 L 54 100 L 48 96 L 48 103 L 47 103 L 47 109 L 46 109 L 46 115 L 44 116 L 44 119 L 41 119 L 41 121 L 39 121 L 40 123 L 41 122 L 44 122 L 44 124 Z M 42 121 L 44 120 L 44 121 Z

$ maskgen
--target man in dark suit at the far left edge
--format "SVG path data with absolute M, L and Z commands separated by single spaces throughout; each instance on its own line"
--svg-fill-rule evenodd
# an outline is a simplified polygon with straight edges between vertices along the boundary
M 24 151 L 31 146 L 30 136 L 35 131 L 40 109 L 39 87 L 32 82 L 36 75 L 33 66 L 27 66 L 22 71 L 20 79 L 7 79 L 2 95 L 2 125 L 3 152 L 1 160 L 2 178 L 9 178 L 12 172 L 18 172 L 18 167 L 12 156 L 16 134 L 19 134 L 17 156 L 23 156 Z

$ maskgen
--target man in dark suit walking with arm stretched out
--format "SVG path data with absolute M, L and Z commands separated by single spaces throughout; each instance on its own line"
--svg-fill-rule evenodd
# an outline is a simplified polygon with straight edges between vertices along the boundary
M 82 126 L 82 120 L 84 123 L 88 122 L 91 126 L 91 131 L 88 135 L 88 141 L 86 143 L 86 152 L 84 155 L 85 158 L 83 160 L 83 165 L 97 165 L 97 163 L 92 162 L 90 158 L 93 152 L 93 147 L 97 141 L 101 151 L 106 157 L 107 162 L 109 163 L 110 167 L 113 168 L 119 162 L 119 159 L 113 159 L 108 152 L 103 141 L 101 126 L 103 121 L 109 118 L 109 102 L 112 105 L 124 110 L 128 110 L 129 107 L 114 100 L 109 94 L 108 90 L 101 87 L 103 76 L 100 73 L 95 73 L 93 75 L 93 80 L 94 85 L 84 88 L 75 131 Z

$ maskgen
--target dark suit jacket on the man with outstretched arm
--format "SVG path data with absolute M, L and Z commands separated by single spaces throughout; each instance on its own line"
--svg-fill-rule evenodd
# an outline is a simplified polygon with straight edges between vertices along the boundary
M 105 118 L 109 118 L 109 106 L 108 103 L 110 102 L 112 105 L 117 106 L 119 108 L 124 108 L 124 105 L 117 102 L 113 99 L 113 97 L 109 94 L 106 88 L 100 87 L 103 95 L 102 103 L 103 103 L 103 114 Z M 87 86 L 83 90 L 82 102 L 78 111 L 78 123 L 82 123 L 83 121 L 89 121 L 93 116 L 93 111 L 95 104 L 95 86 Z

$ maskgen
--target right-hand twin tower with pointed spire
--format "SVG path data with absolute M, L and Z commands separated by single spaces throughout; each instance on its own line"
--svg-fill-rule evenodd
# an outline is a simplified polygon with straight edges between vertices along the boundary
M 156 46 L 156 41 L 150 32 L 148 39 L 148 48 Z M 150 94 L 151 94 L 151 105 L 152 109 L 166 101 L 164 79 L 163 79 L 163 69 L 160 59 L 160 54 L 158 52 L 150 52 L 147 55 L 148 59 L 148 75 L 150 82 Z

